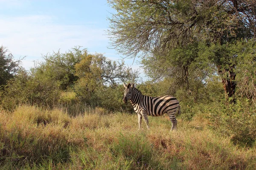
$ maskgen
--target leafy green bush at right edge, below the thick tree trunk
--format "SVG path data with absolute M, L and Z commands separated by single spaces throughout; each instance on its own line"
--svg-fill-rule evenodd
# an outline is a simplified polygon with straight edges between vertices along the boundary
M 249 100 L 238 99 L 236 104 L 214 103 L 209 110 L 212 127 L 235 144 L 253 146 L 256 141 L 256 108 Z

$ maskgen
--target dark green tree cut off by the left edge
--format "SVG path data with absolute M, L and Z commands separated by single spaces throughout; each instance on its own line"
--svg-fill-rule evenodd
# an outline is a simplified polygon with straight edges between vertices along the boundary
M 0 86 L 6 85 L 20 69 L 21 59 L 15 61 L 12 53 L 6 47 L 0 46 Z

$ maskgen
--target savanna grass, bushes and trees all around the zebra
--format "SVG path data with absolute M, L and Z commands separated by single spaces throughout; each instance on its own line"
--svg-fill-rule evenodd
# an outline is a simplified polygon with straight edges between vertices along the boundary
M 0 47 L 0 169 L 256 169 L 256 3 L 253 0 L 108 0 L 109 37 L 139 57 L 81 47 L 47 54 L 26 71 Z M 137 115 L 122 82 L 181 105 Z

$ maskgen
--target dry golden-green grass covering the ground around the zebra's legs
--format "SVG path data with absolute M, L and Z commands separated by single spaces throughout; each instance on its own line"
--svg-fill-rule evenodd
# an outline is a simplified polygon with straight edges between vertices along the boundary
M 75 117 L 55 109 L 21 106 L 0 111 L 0 169 L 256 169 L 256 148 L 241 148 L 217 136 L 207 119 L 149 117 L 88 109 Z

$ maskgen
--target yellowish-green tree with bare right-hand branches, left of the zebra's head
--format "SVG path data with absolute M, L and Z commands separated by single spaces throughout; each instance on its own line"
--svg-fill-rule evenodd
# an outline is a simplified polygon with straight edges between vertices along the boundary
M 79 77 L 75 91 L 82 101 L 93 103 L 105 88 L 116 88 L 120 82 L 136 81 L 137 71 L 125 67 L 124 62 L 107 59 L 103 54 L 83 54 L 82 59 L 75 65 L 76 76 Z M 99 102 L 99 101 L 98 101 Z

